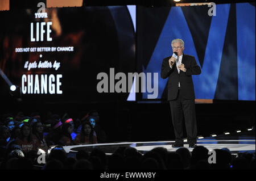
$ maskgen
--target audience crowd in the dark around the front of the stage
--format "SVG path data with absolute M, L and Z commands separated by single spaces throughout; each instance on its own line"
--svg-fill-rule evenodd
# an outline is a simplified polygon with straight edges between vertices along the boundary
M 73 119 L 49 113 L 41 120 L 39 113 L 2 116 L 0 123 L 0 170 L 251 170 L 255 153 L 231 154 L 229 149 L 215 149 L 216 162 L 209 150 L 196 146 L 190 152 L 179 148 L 170 152 L 154 148 L 142 154 L 129 146 L 119 146 L 107 155 L 101 149 L 65 153 L 63 146 L 97 144 L 107 141 L 98 125 L 100 116 L 92 110 Z M 49 151 L 49 148 L 50 151 Z M 45 155 L 43 159 L 42 155 Z M 39 159 L 40 157 L 40 159 Z M 209 159 L 213 162 L 209 162 Z

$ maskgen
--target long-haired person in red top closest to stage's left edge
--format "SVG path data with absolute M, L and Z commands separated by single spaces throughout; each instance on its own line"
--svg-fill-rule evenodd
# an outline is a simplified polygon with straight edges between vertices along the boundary
M 82 124 L 82 130 L 80 134 L 77 134 L 75 138 L 75 144 L 97 144 L 97 137 L 93 134 L 93 127 L 85 121 Z

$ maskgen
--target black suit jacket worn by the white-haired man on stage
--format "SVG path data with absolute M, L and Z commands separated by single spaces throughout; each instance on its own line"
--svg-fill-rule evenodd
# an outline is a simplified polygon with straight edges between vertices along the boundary
M 168 79 L 168 100 L 174 100 L 177 98 L 178 92 L 178 83 L 180 82 L 180 94 L 184 99 L 195 99 L 195 92 L 193 86 L 193 80 L 191 75 L 199 75 L 201 74 L 201 68 L 197 65 L 196 59 L 193 56 L 189 56 L 187 54 L 183 54 L 183 58 L 181 60 L 182 64 L 184 64 L 187 69 L 186 72 L 180 70 L 180 74 L 177 70 L 176 62 L 170 68 L 168 60 L 171 58 L 166 57 L 163 59 L 162 69 L 161 69 L 161 77 L 169 78 Z

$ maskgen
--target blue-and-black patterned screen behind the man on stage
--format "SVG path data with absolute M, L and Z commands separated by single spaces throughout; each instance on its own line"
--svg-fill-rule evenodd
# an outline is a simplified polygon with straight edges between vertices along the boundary
M 255 3 L 217 5 L 216 16 L 209 16 L 209 9 L 137 7 L 137 71 L 158 73 L 159 100 L 167 100 L 160 69 L 176 38 L 184 40 L 184 53 L 202 70 L 192 75 L 196 99 L 255 100 Z

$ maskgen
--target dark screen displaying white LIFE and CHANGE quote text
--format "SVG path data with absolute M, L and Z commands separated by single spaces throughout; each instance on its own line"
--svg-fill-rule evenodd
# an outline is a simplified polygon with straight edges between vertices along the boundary
M 133 10 L 133 11 L 131 11 Z M 126 101 L 129 93 L 99 93 L 97 74 L 135 72 L 135 6 L 72 7 L 0 12 L 0 68 L 23 102 Z M 0 78 L 0 99 L 11 99 Z M 109 90 L 109 87 L 108 87 Z

